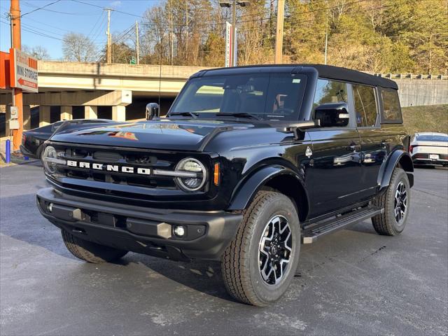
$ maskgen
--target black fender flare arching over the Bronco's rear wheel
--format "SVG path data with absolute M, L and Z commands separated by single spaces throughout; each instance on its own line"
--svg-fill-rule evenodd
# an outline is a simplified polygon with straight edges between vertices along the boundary
M 414 172 L 414 164 L 412 163 L 412 158 L 409 153 L 398 149 L 393 151 L 391 155 L 389 155 L 388 159 L 383 162 L 378 174 L 378 185 L 379 189 L 386 188 L 391 182 L 391 177 L 393 174 L 393 169 L 397 167 L 399 162 L 403 162 L 402 165 L 405 172 L 407 172 L 407 177 L 409 178 L 409 184 L 412 187 L 414 185 L 414 175 L 410 174 Z

